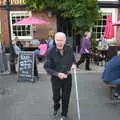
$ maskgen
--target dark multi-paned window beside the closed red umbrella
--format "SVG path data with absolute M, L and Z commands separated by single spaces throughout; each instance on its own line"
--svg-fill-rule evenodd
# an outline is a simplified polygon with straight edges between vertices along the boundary
M 103 13 L 102 18 L 97 20 L 94 27 L 92 28 L 92 33 L 96 35 L 97 40 L 100 39 L 100 37 L 103 35 L 104 26 L 106 25 L 106 17 L 110 14 L 111 13 Z

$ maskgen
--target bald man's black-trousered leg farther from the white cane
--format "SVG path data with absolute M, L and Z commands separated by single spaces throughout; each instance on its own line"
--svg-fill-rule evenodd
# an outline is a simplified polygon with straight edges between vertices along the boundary
M 61 88 L 61 81 L 58 78 L 52 77 L 52 92 L 53 92 L 53 102 L 54 102 L 54 111 L 58 111 L 60 108 L 60 88 Z M 57 113 L 56 113 L 57 114 Z

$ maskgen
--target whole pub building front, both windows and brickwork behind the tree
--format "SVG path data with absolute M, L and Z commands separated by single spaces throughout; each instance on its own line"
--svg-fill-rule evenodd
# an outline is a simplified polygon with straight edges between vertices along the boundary
M 10 11 L 7 10 L 6 1 L 10 3 Z M 98 0 L 98 5 L 102 11 L 102 18 L 97 20 L 95 26 L 91 29 L 91 31 L 96 34 L 97 39 L 99 39 L 104 32 L 107 15 L 112 15 L 113 23 L 120 20 L 119 0 Z M 28 16 L 47 20 L 50 24 L 14 25 L 16 21 Z M 68 20 L 64 20 L 59 16 L 57 17 L 51 11 L 28 11 L 25 7 L 24 0 L 0 0 L 0 34 L 5 46 L 8 46 L 9 40 L 14 40 L 16 36 L 21 41 L 47 39 L 49 34 L 54 34 L 56 31 L 63 31 L 67 36 L 72 36 L 70 29 L 71 26 Z M 119 40 L 120 38 L 118 34 L 120 32 L 119 27 L 114 27 L 114 30 L 115 37 L 111 41 Z

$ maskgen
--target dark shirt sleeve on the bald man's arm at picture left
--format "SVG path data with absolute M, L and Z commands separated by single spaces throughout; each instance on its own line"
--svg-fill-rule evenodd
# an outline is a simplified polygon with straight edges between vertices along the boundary
M 44 68 L 51 76 L 58 76 L 58 72 L 54 70 L 51 50 L 47 53 Z

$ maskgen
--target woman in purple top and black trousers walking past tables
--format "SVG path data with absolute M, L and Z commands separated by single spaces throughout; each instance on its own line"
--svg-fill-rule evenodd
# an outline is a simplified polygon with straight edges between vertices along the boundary
M 82 64 L 84 61 L 85 63 L 85 70 L 91 70 L 90 69 L 90 48 L 91 48 L 91 42 L 90 42 L 91 33 L 85 32 L 82 43 L 81 43 L 81 49 L 80 49 L 80 60 L 76 63 L 77 68 L 79 68 L 79 65 Z

